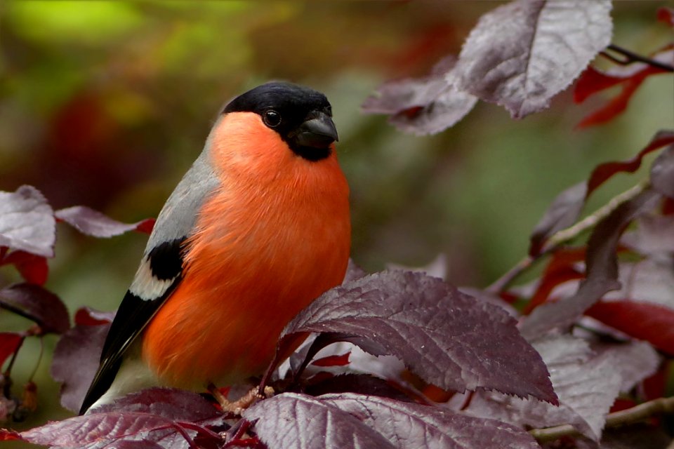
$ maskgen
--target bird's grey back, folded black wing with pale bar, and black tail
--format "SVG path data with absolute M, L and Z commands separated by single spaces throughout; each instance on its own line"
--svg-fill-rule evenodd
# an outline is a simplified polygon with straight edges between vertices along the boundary
M 194 231 L 201 204 L 217 186 L 218 179 L 204 151 L 173 190 L 157 217 L 138 272 L 110 326 L 100 366 L 80 413 L 86 412 L 110 388 L 121 357 L 180 283 L 185 239 Z

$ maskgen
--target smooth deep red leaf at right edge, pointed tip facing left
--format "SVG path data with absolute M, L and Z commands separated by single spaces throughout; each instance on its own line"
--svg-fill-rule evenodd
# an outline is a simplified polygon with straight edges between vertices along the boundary
M 632 300 L 602 301 L 586 315 L 674 355 L 674 310 L 669 307 Z

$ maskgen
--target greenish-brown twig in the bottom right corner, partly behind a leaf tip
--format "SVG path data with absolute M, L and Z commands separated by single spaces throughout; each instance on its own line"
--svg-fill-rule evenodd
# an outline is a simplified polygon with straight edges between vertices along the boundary
M 674 413 L 674 396 L 657 398 L 653 401 L 640 403 L 633 408 L 609 413 L 606 417 L 605 427 L 620 427 L 626 424 L 633 424 L 660 413 Z M 581 435 L 571 424 L 562 424 L 561 426 L 547 427 L 546 429 L 531 429 L 529 434 L 541 442 L 555 441 L 562 436 Z

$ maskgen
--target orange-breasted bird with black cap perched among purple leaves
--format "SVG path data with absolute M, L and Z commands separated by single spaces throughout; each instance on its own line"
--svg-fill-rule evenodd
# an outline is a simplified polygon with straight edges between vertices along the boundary
M 345 276 L 349 187 L 332 108 L 272 81 L 234 98 L 161 208 L 80 414 L 147 387 L 263 374 L 293 316 Z

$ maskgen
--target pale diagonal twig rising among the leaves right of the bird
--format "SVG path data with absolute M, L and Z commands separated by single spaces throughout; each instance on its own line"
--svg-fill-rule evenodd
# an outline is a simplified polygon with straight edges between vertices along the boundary
M 647 180 L 640 182 L 631 189 L 614 196 L 609 200 L 608 203 L 604 204 L 604 206 L 598 208 L 593 213 L 583 218 L 583 220 L 576 222 L 574 225 L 571 225 L 565 229 L 557 231 L 555 234 L 553 234 L 553 236 L 550 236 L 548 241 L 546 241 L 540 253 L 536 254 L 535 256 L 527 255 L 527 257 L 524 257 L 522 260 L 520 260 L 520 262 L 517 262 L 513 268 L 509 269 L 508 272 L 505 272 L 503 276 L 496 279 L 494 283 L 491 283 L 491 285 L 485 290 L 494 294 L 502 293 L 506 288 L 508 288 L 508 286 L 510 286 L 511 283 L 513 283 L 513 281 L 515 281 L 515 279 L 517 279 L 517 277 L 526 272 L 527 269 L 529 269 L 529 267 L 534 264 L 534 262 L 537 262 L 543 256 L 553 253 L 555 250 L 557 250 L 557 248 L 562 246 L 562 243 L 565 243 L 571 239 L 575 239 L 583 232 L 595 227 L 598 222 L 607 217 L 622 203 L 633 199 L 635 196 L 643 192 L 648 185 L 649 184 Z

